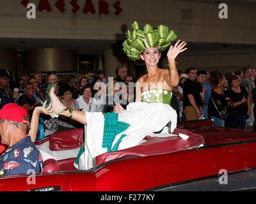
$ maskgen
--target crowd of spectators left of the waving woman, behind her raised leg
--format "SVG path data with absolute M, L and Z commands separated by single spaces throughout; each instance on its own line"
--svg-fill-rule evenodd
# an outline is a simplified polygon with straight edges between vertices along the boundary
M 124 108 L 129 102 L 134 102 L 135 94 L 129 94 L 129 82 L 134 82 L 133 78 L 127 75 L 127 68 L 124 66 L 116 69 L 116 78 L 112 82 L 107 82 L 103 73 L 95 75 L 92 84 L 89 78 L 70 77 L 68 82 L 63 82 L 58 75 L 47 76 L 46 83 L 42 83 L 39 72 L 35 71 L 27 75 L 21 75 L 15 84 L 13 91 L 10 89 L 10 79 L 12 78 L 8 70 L 0 69 L 0 109 L 8 103 L 16 103 L 25 108 L 31 118 L 36 106 L 42 106 L 46 100 L 46 87 L 48 84 L 57 84 L 56 94 L 60 101 L 73 110 L 84 112 L 113 112 L 115 103 L 121 104 Z M 60 83 L 61 82 L 61 83 Z M 116 85 L 122 82 L 122 85 Z M 108 83 L 108 84 L 107 84 Z M 124 85 L 123 85 L 124 87 Z M 114 90 L 115 89 L 115 90 Z M 120 92 L 121 91 L 121 92 Z M 120 94 L 116 94 L 120 92 Z M 125 92 L 125 93 L 124 93 Z M 44 115 L 42 122 L 49 120 L 49 116 Z M 78 128 L 79 124 L 68 117 L 58 117 L 58 129 Z M 45 129 L 45 135 L 53 133 Z

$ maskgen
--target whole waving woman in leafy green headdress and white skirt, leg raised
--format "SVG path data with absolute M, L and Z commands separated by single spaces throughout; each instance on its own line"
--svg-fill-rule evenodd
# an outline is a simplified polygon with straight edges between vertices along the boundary
M 132 27 L 134 31 L 127 32 L 127 41 L 123 43 L 124 52 L 132 60 L 141 57 L 148 73 L 139 78 L 136 84 L 136 102 L 129 104 L 127 110 L 116 105 L 115 113 L 73 111 L 60 103 L 54 89 L 49 93 L 51 110 L 86 125 L 88 136 L 75 163 L 79 169 L 92 168 L 95 165 L 93 159 L 99 154 L 138 145 L 146 135 L 161 131 L 169 121 L 172 122 L 171 132 L 176 128 L 177 113 L 170 106 L 170 100 L 172 87 L 179 83 L 175 58 L 187 49 L 184 48 L 186 43 L 179 40 L 172 45 L 167 54 L 169 68 L 160 69 L 157 63 L 161 51 L 168 48 L 177 35 L 174 31 L 168 32 L 166 25 L 159 25 L 156 30 L 146 24 L 142 31 L 138 23 L 134 22 Z

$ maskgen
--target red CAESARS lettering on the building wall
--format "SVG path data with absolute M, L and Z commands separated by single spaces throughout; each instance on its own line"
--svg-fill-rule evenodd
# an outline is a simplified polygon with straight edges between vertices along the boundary
M 21 2 L 25 7 L 29 3 L 29 0 L 23 0 Z M 52 3 L 52 1 L 51 1 Z M 52 6 L 55 6 L 61 13 L 63 13 L 66 10 L 66 3 L 65 0 L 58 0 L 55 1 L 54 4 L 51 4 L 49 0 L 40 0 L 37 6 L 38 11 L 46 10 L 47 12 L 52 11 Z M 73 7 L 72 12 L 76 13 L 80 8 L 83 9 L 83 13 L 96 13 L 95 6 L 98 6 L 99 8 L 99 14 L 109 14 L 109 9 L 113 7 L 115 9 L 115 15 L 119 15 L 123 10 L 120 6 L 120 1 L 115 1 L 114 4 L 109 5 L 108 1 L 97 1 L 97 3 L 93 3 L 92 0 L 85 0 L 83 5 L 82 3 L 77 4 L 77 0 L 70 0 L 68 3 Z

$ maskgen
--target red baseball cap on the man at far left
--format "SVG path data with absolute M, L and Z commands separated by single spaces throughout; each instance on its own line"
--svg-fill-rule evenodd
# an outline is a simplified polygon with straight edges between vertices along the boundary
M 24 122 L 25 116 L 29 117 L 27 110 L 16 103 L 8 103 L 0 110 L 0 119 Z

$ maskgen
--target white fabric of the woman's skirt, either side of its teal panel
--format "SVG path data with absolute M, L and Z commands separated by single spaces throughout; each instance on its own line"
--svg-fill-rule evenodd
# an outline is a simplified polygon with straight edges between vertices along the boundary
M 113 142 L 115 145 L 120 136 L 127 135 L 118 145 L 118 150 L 122 150 L 138 145 L 145 136 L 152 132 L 161 131 L 169 121 L 172 122 L 171 132 L 173 132 L 177 126 L 177 113 L 170 105 L 164 103 L 135 102 L 127 105 L 127 110 L 124 112 L 118 113 L 118 121 L 130 124 L 129 128 L 116 135 Z M 86 112 L 86 122 L 84 152 L 79 157 L 79 165 L 74 164 L 80 170 L 92 168 L 95 166 L 95 157 L 107 152 L 106 148 L 102 148 L 103 113 Z

